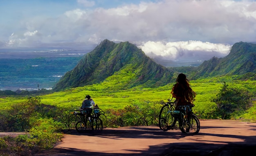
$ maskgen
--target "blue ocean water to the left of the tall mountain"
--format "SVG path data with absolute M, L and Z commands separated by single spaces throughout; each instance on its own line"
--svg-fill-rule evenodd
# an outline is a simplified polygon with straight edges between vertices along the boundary
M 0 49 L 0 90 L 52 89 L 89 50 Z

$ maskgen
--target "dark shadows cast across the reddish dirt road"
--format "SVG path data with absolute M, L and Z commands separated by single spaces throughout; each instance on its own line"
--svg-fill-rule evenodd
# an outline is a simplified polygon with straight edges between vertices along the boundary
M 255 130 L 255 126 L 251 130 Z M 227 128 L 225 126 L 201 126 L 201 129 L 216 129 Z M 53 148 L 49 151 L 41 152 L 36 156 L 241 156 L 244 154 L 254 153 L 256 149 L 256 136 L 243 136 L 232 134 L 212 134 L 212 133 L 198 133 L 198 134 L 182 134 L 180 130 L 162 131 L 159 127 L 121 127 L 121 128 L 106 128 L 101 133 L 92 134 L 90 132 L 79 133 L 75 129 L 66 131 L 66 134 L 75 136 L 95 136 L 108 139 L 124 139 L 124 138 L 148 138 L 148 139 L 176 139 L 179 140 L 186 136 L 196 136 L 189 138 L 186 143 L 162 143 L 158 145 L 149 146 L 147 150 L 127 150 L 127 153 L 102 153 L 89 152 L 76 148 Z M 203 143 L 208 140 L 202 140 L 204 136 L 222 137 L 226 141 L 211 140 L 211 143 Z M 196 138 L 201 138 L 198 141 Z M 238 138 L 243 142 L 229 142 L 229 138 Z M 200 143 L 201 142 L 201 143 Z M 111 141 L 110 141 L 111 143 Z M 97 148 L 97 147 L 93 147 Z M 131 152 L 138 152 L 138 154 L 130 154 Z M 128 154 L 129 153 L 129 154 Z

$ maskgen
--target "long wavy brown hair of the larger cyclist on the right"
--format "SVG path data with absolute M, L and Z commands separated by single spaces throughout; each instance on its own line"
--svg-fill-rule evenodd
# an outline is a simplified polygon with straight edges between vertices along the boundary
M 196 93 L 191 89 L 185 74 L 178 75 L 176 84 L 173 86 L 173 94 L 181 98 L 184 97 L 189 102 L 195 100 Z

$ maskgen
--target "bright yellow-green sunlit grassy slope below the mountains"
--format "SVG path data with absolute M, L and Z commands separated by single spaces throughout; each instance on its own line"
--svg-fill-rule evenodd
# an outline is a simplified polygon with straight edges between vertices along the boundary
M 47 105 L 55 105 L 59 107 L 73 107 L 79 108 L 85 95 L 90 94 L 95 103 L 101 109 L 121 109 L 127 105 L 144 105 L 145 101 L 160 102 L 167 101 L 170 98 L 170 91 L 174 83 L 170 83 L 164 87 L 158 88 L 143 88 L 137 86 L 132 89 L 121 90 L 120 79 L 129 79 L 129 73 L 123 72 L 107 78 L 104 82 L 96 85 L 89 85 L 85 87 L 77 87 L 67 89 L 53 94 L 40 96 L 41 103 Z M 130 76 L 132 78 L 132 76 Z M 220 87 L 225 81 L 230 86 L 246 87 L 252 93 L 256 92 L 256 81 L 241 81 L 232 80 L 231 77 L 218 77 L 218 78 L 202 78 L 198 80 L 191 80 L 191 87 L 197 93 L 196 100 L 194 101 L 194 112 L 199 118 L 211 119 L 211 114 L 216 109 L 216 104 L 211 102 L 211 98 L 218 94 Z M 125 82 L 124 82 L 125 83 Z M 255 98 L 255 95 L 254 97 Z M 20 102 L 18 97 L 8 97 L 0 99 L 0 109 L 7 109 L 9 105 Z M 247 114 L 243 115 L 246 120 L 255 120 L 256 105 L 248 110 Z

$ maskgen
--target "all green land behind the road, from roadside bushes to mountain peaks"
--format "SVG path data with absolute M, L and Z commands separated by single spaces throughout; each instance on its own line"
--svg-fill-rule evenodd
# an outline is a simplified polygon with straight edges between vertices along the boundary
M 88 94 L 105 111 L 106 127 L 157 125 L 162 104 L 171 98 L 181 72 L 197 93 L 193 111 L 198 118 L 256 122 L 255 53 L 254 44 L 239 42 L 228 56 L 213 57 L 199 67 L 166 68 L 129 42 L 104 40 L 51 93 L 1 96 L 0 130 L 31 134 L 16 140 L 0 138 L 0 155 L 52 148 L 61 129 L 74 128 L 72 113 Z M 16 146 L 9 148 L 11 141 Z

